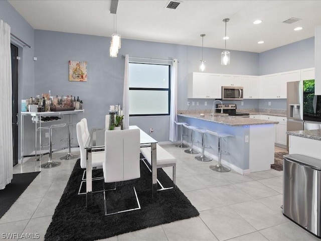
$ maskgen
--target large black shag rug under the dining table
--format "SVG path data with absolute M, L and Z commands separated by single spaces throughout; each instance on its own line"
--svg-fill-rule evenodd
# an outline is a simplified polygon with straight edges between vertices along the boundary
M 116 191 L 106 192 L 107 202 L 115 204 L 115 208 L 133 208 L 134 184 L 141 209 L 105 216 L 103 192 L 97 192 L 93 193 L 92 209 L 87 210 L 86 195 L 77 195 L 82 174 L 78 160 L 56 207 L 45 240 L 97 240 L 199 215 L 178 187 L 158 192 L 157 197 L 152 199 L 151 173 L 142 161 L 139 179 L 117 182 Z M 94 170 L 93 176 L 102 176 L 102 170 Z M 157 179 L 165 187 L 172 185 L 172 180 L 163 169 L 157 170 Z M 102 185 L 103 180 L 94 181 L 93 191 L 102 190 Z

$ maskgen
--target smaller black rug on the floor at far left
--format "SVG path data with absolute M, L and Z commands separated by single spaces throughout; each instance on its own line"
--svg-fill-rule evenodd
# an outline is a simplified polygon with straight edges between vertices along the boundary
M 14 174 L 11 183 L 5 189 L 0 190 L 0 218 L 9 210 L 38 174 L 39 172 Z

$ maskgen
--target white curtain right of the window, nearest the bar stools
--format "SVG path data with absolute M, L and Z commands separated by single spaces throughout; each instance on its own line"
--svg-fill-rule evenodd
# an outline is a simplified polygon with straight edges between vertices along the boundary
M 177 68 L 178 60 L 173 60 L 172 76 L 171 76 L 171 115 L 170 115 L 170 141 L 177 141 L 177 127 L 175 120 L 177 120 Z

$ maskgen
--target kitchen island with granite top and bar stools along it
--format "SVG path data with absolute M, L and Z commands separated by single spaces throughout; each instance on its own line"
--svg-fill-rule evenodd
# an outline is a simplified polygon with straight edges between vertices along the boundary
M 207 113 L 204 117 L 195 113 L 180 113 L 177 116 L 179 122 L 232 135 L 233 137 L 226 138 L 225 142 L 222 142 L 222 150 L 229 153 L 222 155 L 222 164 L 240 174 L 270 170 L 270 165 L 274 163 L 274 125 L 278 122 L 221 113 L 215 113 L 214 116 Z M 190 140 L 190 133 L 185 134 L 189 135 L 186 140 Z M 195 145 L 201 150 L 201 135 L 195 133 L 193 139 L 199 141 Z M 207 135 L 205 144 L 211 146 L 206 149 L 206 154 L 218 160 L 218 138 Z

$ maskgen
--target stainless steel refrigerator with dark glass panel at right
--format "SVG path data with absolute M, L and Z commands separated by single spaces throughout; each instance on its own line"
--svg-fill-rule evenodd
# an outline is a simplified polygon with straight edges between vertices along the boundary
M 314 80 L 287 82 L 286 131 L 321 129 L 321 95 L 314 95 Z M 288 150 L 288 136 L 286 142 Z

